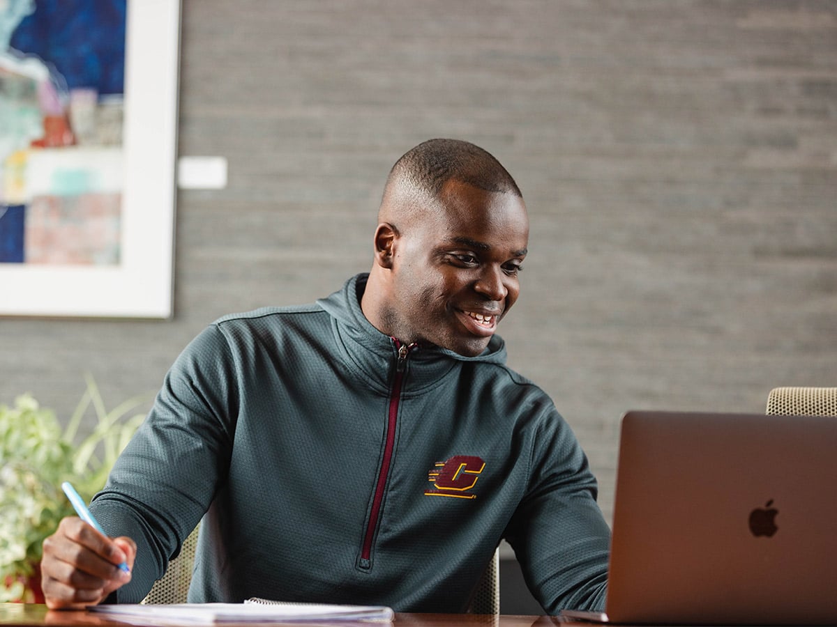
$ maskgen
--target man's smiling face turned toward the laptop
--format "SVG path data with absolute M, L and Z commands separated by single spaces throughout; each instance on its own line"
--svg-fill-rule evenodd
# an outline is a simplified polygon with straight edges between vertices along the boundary
M 441 199 L 446 211 L 405 225 L 393 243 L 387 325 L 398 339 L 475 356 L 520 292 L 526 206 L 459 181 L 448 181 Z

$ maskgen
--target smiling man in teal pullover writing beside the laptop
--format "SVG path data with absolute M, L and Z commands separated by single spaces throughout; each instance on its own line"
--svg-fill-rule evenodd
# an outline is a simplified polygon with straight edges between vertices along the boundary
M 393 166 L 378 222 L 368 275 L 183 351 L 91 505 L 118 538 L 67 518 L 44 542 L 50 607 L 141 600 L 201 517 L 190 601 L 460 612 L 506 538 L 547 612 L 603 606 L 595 480 L 495 334 L 526 257 L 515 182 L 430 140 Z

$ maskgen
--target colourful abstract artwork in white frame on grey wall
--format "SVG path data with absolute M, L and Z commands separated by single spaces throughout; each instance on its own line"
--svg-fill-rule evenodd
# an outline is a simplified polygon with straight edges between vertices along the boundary
M 0 2 L 0 315 L 168 318 L 180 0 Z

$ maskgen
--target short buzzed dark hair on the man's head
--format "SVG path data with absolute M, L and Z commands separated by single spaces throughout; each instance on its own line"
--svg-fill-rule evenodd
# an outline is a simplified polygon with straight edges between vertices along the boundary
M 438 197 L 450 180 L 523 197 L 511 174 L 494 155 L 463 140 L 427 140 L 408 150 L 389 171 L 387 187 L 398 181 L 413 187 L 414 192 Z

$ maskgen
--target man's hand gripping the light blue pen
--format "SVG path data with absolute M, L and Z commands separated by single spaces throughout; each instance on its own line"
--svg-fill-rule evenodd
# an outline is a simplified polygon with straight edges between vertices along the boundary
M 134 567 L 136 543 L 131 538 L 107 538 L 76 517 L 66 517 L 44 539 L 41 586 L 49 609 L 82 609 L 103 601 L 131 581 L 119 568 Z

